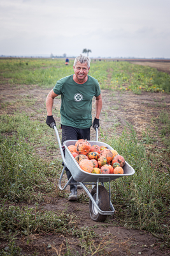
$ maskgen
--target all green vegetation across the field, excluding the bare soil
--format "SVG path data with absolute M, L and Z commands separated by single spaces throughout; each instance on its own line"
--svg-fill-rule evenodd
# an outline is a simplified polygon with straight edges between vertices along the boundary
M 1 86 L 10 88 L 51 89 L 57 80 L 73 74 L 73 60 L 68 67 L 63 60 L 48 59 L 13 59 L 0 60 Z M 142 92 L 160 92 L 167 95 L 170 92 L 170 76 L 155 68 L 134 65 L 126 61 L 92 61 L 90 76 L 100 83 L 101 89 L 124 93 L 126 90 L 139 95 Z M 27 106 L 29 111 L 20 111 L 21 106 Z M 13 111 L 8 112 L 8 107 Z M 31 110 L 32 109 L 32 112 Z M 34 113 L 34 114 L 33 114 Z M 15 245 L 15 237 L 31 234 L 60 233 L 63 236 L 95 237 L 94 232 L 85 227 L 80 230 L 76 226 L 74 214 L 65 212 L 55 214 L 51 211 L 38 210 L 38 205 L 45 196 L 67 197 L 67 192 L 57 189 L 56 179 L 59 179 L 62 168 L 60 157 L 49 158 L 53 150 L 59 150 L 53 140 L 53 129 L 44 122 L 45 102 L 42 108 L 36 106 L 36 99 L 30 97 L 18 98 L 11 102 L 8 96 L 1 102 L 1 168 L 0 168 L 0 239 L 6 241 L 9 250 L 0 251 L 0 255 L 22 255 L 20 247 Z M 60 113 L 58 112 L 60 116 Z M 131 124 L 127 124 L 120 136 L 111 136 L 101 129 L 100 138 L 115 148 L 119 154 L 136 171 L 132 177 L 117 179 L 111 183 L 111 201 L 117 209 L 118 223 L 122 227 L 146 230 L 159 237 L 159 247 L 169 248 L 170 232 L 170 168 L 169 114 L 160 111 L 159 119 L 154 120 L 155 131 L 164 143 L 164 148 L 157 147 L 152 141 L 150 132 L 138 138 Z M 160 123 L 164 125 L 159 129 Z M 169 137 L 168 137 L 169 138 Z M 154 150 L 152 146 L 154 145 Z M 45 154 L 38 154 L 43 148 Z M 148 150 L 152 148 L 151 153 Z M 106 185 L 107 188 L 107 185 Z M 86 196 L 79 198 L 79 203 L 87 203 Z M 21 207 L 21 203 L 34 204 L 34 208 Z M 37 217 L 34 217 L 35 208 Z M 33 216 L 33 217 L 32 217 Z M 107 223 L 112 223 L 108 218 Z M 67 225 L 67 223 L 71 225 Z M 73 232 L 74 230 L 74 232 Z M 80 232 L 81 231 L 81 232 Z M 80 234 L 81 233 L 81 234 Z M 29 242 L 28 242 L 29 243 Z M 83 247 L 90 252 L 92 244 Z M 86 248 L 86 249 L 85 249 Z M 84 252 L 84 251 L 83 251 Z M 8 253 L 8 254 L 5 254 Z M 73 252 L 64 255 L 74 255 Z M 101 252 L 102 253 L 102 252 Z M 39 255 L 39 254 L 34 254 Z

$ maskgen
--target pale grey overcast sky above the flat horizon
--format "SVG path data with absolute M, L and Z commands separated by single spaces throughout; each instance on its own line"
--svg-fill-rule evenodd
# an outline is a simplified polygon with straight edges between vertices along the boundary
M 0 55 L 170 58 L 170 0 L 0 0 Z

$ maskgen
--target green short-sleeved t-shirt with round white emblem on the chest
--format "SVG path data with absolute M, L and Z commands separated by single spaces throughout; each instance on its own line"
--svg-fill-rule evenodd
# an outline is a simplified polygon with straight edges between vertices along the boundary
M 76 128 L 92 126 L 92 99 L 101 94 L 99 83 L 88 76 L 83 84 L 74 82 L 73 75 L 57 81 L 53 92 L 61 95 L 60 122 Z

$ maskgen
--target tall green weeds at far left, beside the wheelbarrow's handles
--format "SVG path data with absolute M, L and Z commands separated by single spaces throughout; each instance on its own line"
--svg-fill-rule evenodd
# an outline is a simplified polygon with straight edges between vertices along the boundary
M 39 201 L 42 193 L 53 191 L 49 177 L 56 175 L 54 164 L 39 159 L 36 147 L 56 148 L 50 143 L 45 125 L 31 122 L 27 115 L 1 116 L 1 198 L 13 200 Z M 45 127 L 46 130 L 46 127 Z M 6 136 L 3 136 L 6 134 Z M 41 136 L 44 134 L 44 136 Z M 58 164 L 55 161 L 55 164 Z M 59 165 L 60 166 L 60 165 Z M 38 189 L 39 194 L 35 195 Z

